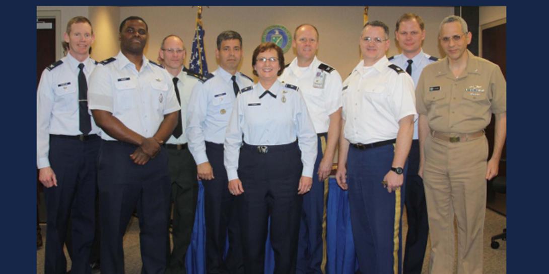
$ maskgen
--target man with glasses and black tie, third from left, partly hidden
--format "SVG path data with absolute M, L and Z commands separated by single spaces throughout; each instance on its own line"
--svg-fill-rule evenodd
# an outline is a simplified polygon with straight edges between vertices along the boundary
M 187 147 L 185 127 L 187 105 L 191 99 L 194 84 L 201 75 L 183 66 L 187 50 L 181 37 L 169 35 L 164 38 L 158 52 L 159 60 L 173 76 L 177 100 L 181 105 L 180 117 L 170 139 L 166 141 L 168 167 L 170 169 L 173 202 L 172 240 L 173 250 L 168 250 L 166 274 L 184 274 L 185 255 L 191 243 L 194 225 L 194 212 L 198 201 L 197 168 Z M 168 246 L 170 248 L 170 246 Z

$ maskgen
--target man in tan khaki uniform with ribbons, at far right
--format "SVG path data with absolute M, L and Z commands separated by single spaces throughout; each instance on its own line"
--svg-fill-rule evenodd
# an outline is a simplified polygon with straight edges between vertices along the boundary
M 474 56 L 467 23 L 451 15 L 440 24 L 446 58 L 423 69 L 416 88 L 420 167 L 429 216 L 429 273 L 453 273 L 454 216 L 457 273 L 483 272 L 486 180 L 498 173 L 507 122 L 506 82 L 500 67 Z M 484 128 L 495 114 L 494 152 L 487 162 Z

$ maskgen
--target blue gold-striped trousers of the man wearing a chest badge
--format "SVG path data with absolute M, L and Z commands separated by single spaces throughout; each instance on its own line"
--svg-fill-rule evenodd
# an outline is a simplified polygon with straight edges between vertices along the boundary
M 326 133 L 318 134 L 318 153 L 315 171 L 312 174 L 311 191 L 303 195 L 303 210 L 299 226 L 298 274 L 322 274 L 322 218 L 324 215 L 324 181 L 318 181 L 318 165 L 324 151 L 322 142 L 327 141 Z

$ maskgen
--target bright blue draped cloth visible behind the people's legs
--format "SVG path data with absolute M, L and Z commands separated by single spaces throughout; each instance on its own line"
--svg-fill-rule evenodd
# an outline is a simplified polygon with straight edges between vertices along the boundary
M 192 241 L 187 251 L 187 272 L 189 274 L 206 273 L 204 225 L 204 186 L 198 182 L 198 203 L 195 214 Z M 358 270 L 355 246 L 352 242 L 351 219 L 347 191 L 343 191 L 329 179 L 328 204 L 326 209 L 327 228 L 327 274 L 354 274 Z M 269 221 L 270 222 L 270 221 Z M 228 244 L 227 244 L 228 246 Z M 269 237 L 265 243 L 265 274 L 272 274 L 275 269 L 275 254 Z

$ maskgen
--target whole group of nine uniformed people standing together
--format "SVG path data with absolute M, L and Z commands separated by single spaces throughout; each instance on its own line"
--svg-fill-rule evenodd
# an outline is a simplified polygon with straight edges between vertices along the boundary
M 395 35 L 402 54 L 386 58 L 389 27 L 367 22 L 362 60 L 342 83 L 316 58 L 316 27 L 300 25 L 288 65 L 275 43 L 255 48 L 254 84 L 238 71 L 238 32 L 217 36 L 219 67 L 198 75 L 183 66 L 187 52 L 176 35 L 162 41 L 161 65 L 145 58 L 148 26 L 138 16 L 121 22 L 119 54 L 99 63 L 89 58 L 91 22 L 71 19 L 68 54 L 44 70 L 37 92 L 45 273 L 66 272 L 67 233 L 71 273 L 90 273 L 97 221 L 101 273 L 124 273 L 122 237 L 134 210 L 142 272 L 186 273 L 198 179 L 207 273 L 263 273 L 269 219 L 274 272 L 322 273 L 327 178 L 338 141 L 335 177 L 349 191 L 360 272 L 421 273 L 430 227 L 429 273 L 451 273 L 456 216 L 458 273 L 481 273 L 484 182 L 497 175 L 505 142 L 505 79 L 467 50 L 471 33 L 459 16 L 440 24 L 447 56 L 439 61 L 421 49 L 421 17 L 402 15 Z M 495 147 L 487 163 L 483 130 L 491 113 Z

